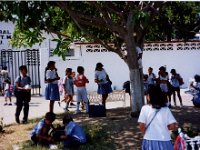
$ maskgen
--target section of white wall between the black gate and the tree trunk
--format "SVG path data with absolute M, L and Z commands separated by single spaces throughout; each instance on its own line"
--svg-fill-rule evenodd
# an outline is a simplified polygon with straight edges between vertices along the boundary
M 53 44 L 51 44 L 53 47 Z M 122 85 L 125 81 L 129 79 L 128 67 L 119 56 L 112 52 L 86 52 L 86 45 L 76 45 L 76 55 L 78 57 L 70 59 L 67 58 L 63 61 L 61 58 L 46 57 L 48 56 L 48 49 L 41 49 L 41 81 L 42 89 L 44 89 L 43 78 L 44 78 L 44 68 L 49 60 L 56 62 L 56 67 L 58 69 L 58 74 L 60 77 L 65 76 L 65 69 L 72 68 L 73 71 L 77 72 L 78 66 L 83 66 L 85 68 L 85 75 L 88 77 L 90 83 L 87 85 L 88 91 L 96 91 L 97 85 L 94 83 L 94 72 L 96 63 L 102 62 L 104 68 L 110 76 L 113 84 L 112 87 L 116 89 L 122 89 Z M 42 91 L 44 93 L 44 91 Z

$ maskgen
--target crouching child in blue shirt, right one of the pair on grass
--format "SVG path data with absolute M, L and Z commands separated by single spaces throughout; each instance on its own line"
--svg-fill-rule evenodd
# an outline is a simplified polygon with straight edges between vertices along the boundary
M 67 114 L 63 117 L 65 125 L 65 135 L 61 135 L 60 139 L 64 141 L 65 148 L 79 148 L 80 145 L 86 143 L 86 134 L 80 125 L 73 122 L 72 117 Z

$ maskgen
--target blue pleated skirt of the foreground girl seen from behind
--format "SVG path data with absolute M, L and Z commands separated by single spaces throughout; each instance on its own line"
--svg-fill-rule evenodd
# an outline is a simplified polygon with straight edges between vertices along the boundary
M 173 150 L 171 141 L 155 141 L 143 139 L 142 150 Z

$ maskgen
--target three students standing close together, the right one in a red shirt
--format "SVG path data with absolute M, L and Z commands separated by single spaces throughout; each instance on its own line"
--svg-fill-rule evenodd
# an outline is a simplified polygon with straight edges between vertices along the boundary
M 84 68 L 82 66 L 77 67 L 78 75 L 72 77 L 72 69 L 67 68 L 65 71 L 65 77 L 63 78 L 61 84 L 64 89 L 64 99 L 62 101 L 66 102 L 65 109 L 68 110 L 70 102 L 73 100 L 74 95 L 74 85 L 77 87 L 77 105 L 76 112 L 80 112 L 80 102 L 83 102 L 86 107 L 86 112 L 88 112 L 88 98 L 86 84 L 89 80 L 84 75 Z M 58 82 L 60 77 L 58 76 L 57 69 L 54 61 L 49 61 L 45 70 L 45 82 L 47 83 L 45 89 L 45 98 L 50 101 L 49 111 L 53 112 L 54 102 L 60 101 L 60 92 Z M 61 102 L 62 102 L 61 101 Z M 60 104 L 60 102 L 59 102 Z

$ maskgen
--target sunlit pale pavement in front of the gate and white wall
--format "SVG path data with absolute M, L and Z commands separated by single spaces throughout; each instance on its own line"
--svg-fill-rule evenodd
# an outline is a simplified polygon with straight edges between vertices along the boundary
M 183 98 L 183 105 L 185 106 L 193 106 L 191 99 L 192 96 L 185 94 L 185 90 L 181 90 L 181 95 Z M 74 97 L 75 99 L 75 97 Z M 177 99 L 178 100 L 178 99 Z M 15 98 L 12 98 L 12 101 L 15 102 Z M 179 102 L 177 102 L 179 105 Z M 54 112 L 55 113 L 62 113 L 64 112 L 63 107 L 64 103 L 61 104 L 61 107 L 59 107 L 58 103 L 55 103 Z M 173 102 L 172 102 L 173 105 Z M 129 95 L 126 95 L 126 107 L 130 106 L 130 98 Z M 123 107 L 123 102 L 108 102 L 107 103 L 107 109 L 111 108 L 118 108 Z M 15 109 L 16 106 L 13 104 L 12 106 L 4 106 L 4 97 L 0 97 L 0 117 L 3 117 L 4 124 L 8 125 L 11 123 L 15 123 Z M 184 107 L 183 107 L 184 109 Z M 29 119 L 37 118 L 44 116 L 46 112 L 49 110 L 49 101 L 46 101 L 44 97 L 32 97 L 32 100 L 30 102 L 30 110 L 29 110 Z M 74 108 L 70 108 L 70 111 L 74 111 Z M 23 110 L 20 115 L 20 119 L 22 120 L 23 117 Z

